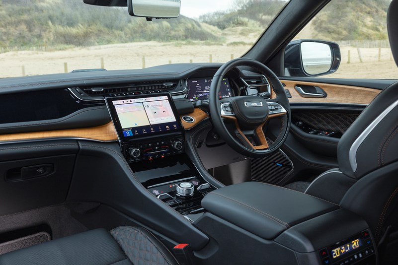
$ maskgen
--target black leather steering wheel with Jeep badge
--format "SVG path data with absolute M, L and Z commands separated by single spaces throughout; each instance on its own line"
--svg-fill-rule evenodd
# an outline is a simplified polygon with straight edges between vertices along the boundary
M 227 74 L 228 71 L 231 69 L 237 67 L 237 66 L 249 66 L 254 69 L 256 69 L 259 73 L 263 74 L 267 80 L 268 83 L 271 87 L 271 89 L 275 92 L 276 98 L 272 100 L 266 100 L 266 102 L 274 102 L 282 106 L 282 108 L 286 111 L 284 115 L 286 115 L 285 122 L 282 122 L 282 128 L 281 132 L 279 133 L 278 136 L 276 136 L 275 141 L 272 143 L 272 146 L 269 148 L 263 148 L 263 149 L 254 149 L 258 148 L 258 146 L 253 146 L 250 143 L 248 146 L 244 146 L 241 142 L 244 143 L 244 141 L 239 142 L 234 136 L 231 135 L 229 130 L 224 124 L 223 117 L 224 118 L 233 118 L 233 117 L 227 117 L 221 115 L 221 108 L 220 108 L 220 100 L 218 98 L 218 93 L 220 91 L 220 86 L 221 82 L 223 81 L 224 76 Z M 242 96 L 240 96 L 242 97 Z M 239 98 L 240 98 L 239 97 Z M 257 100 L 258 97 L 254 96 L 243 96 L 246 97 L 247 100 Z M 234 97 L 238 98 L 238 97 Z M 226 98 L 228 100 L 229 98 Z M 261 98 L 261 100 L 263 100 Z M 244 103 L 247 106 L 247 103 Z M 234 107 L 238 107 L 236 104 L 233 105 Z M 262 106 L 262 103 L 261 103 Z M 259 158 L 259 157 L 265 157 L 268 156 L 272 153 L 274 153 L 276 150 L 278 150 L 281 145 L 284 143 L 286 140 L 286 137 L 289 132 L 290 128 L 290 120 L 291 120 L 291 115 L 290 115 L 290 105 L 289 105 L 289 100 L 286 95 L 285 89 L 280 82 L 279 78 L 275 75 L 275 73 L 269 69 L 267 66 L 261 64 L 260 62 L 249 59 L 249 58 L 238 58 L 231 60 L 227 63 L 225 63 L 223 66 L 221 66 L 218 71 L 215 73 L 213 76 L 212 83 L 210 85 L 210 94 L 209 94 L 209 107 L 210 107 L 210 119 L 213 123 L 213 127 L 216 130 L 217 133 L 220 134 L 220 136 L 227 142 L 228 145 L 230 145 L 231 148 L 233 148 L 235 151 L 238 153 L 245 155 L 247 157 L 253 157 L 253 158 Z M 272 115 L 268 115 L 272 116 Z M 275 115 L 274 115 L 275 116 Z M 279 116 L 279 115 L 278 115 Z M 269 117 L 266 118 L 265 122 L 269 120 Z M 265 122 L 257 128 L 261 133 L 262 132 L 262 126 L 265 124 Z M 241 131 L 239 130 L 239 125 L 236 120 L 236 126 L 238 131 L 240 132 L 240 135 L 242 135 Z M 237 135 L 238 136 L 238 135 Z M 243 138 L 248 142 L 247 138 L 242 135 Z M 265 140 L 265 136 L 263 137 Z M 247 145 L 247 144 L 246 144 Z M 262 145 L 265 147 L 266 144 Z M 254 147 L 254 148 L 253 148 Z

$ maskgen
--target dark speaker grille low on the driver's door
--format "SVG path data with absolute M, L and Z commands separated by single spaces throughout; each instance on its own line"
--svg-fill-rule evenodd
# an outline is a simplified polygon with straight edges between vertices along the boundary
M 252 181 L 277 184 L 292 170 L 292 162 L 281 150 L 267 157 L 251 159 Z

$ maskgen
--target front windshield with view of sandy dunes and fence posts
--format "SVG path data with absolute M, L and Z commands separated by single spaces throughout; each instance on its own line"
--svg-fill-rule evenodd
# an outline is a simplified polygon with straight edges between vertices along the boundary
M 283 0 L 181 0 L 176 19 L 82 0 L 0 0 L 0 77 L 224 63 L 243 55 Z

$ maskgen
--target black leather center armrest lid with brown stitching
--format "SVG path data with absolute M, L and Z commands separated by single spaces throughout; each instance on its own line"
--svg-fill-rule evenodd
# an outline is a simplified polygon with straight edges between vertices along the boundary
M 289 227 L 338 209 L 339 205 L 286 188 L 245 182 L 210 192 L 202 206 L 264 239 Z

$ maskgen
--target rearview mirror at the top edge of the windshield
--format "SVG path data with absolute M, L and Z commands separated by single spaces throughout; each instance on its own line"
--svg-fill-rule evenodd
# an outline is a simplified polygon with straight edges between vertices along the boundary
M 147 18 L 174 18 L 180 15 L 180 0 L 127 0 L 129 14 Z

